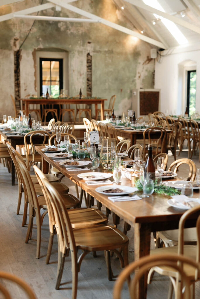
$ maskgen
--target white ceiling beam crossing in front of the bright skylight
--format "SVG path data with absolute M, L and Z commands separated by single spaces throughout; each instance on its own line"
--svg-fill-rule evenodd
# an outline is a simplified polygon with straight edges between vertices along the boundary
M 185 27 L 187 29 L 190 29 L 190 30 L 192 30 L 192 31 L 200 34 L 200 28 L 199 27 L 197 27 L 197 26 L 195 26 L 193 24 L 190 24 L 190 23 L 188 23 L 186 21 L 183 21 L 182 18 L 177 18 L 175 16 L 172 16 L 169 13 L 165 13 L 165 12 L 163 12 L 161 10 L 155 9 L 155 8 L 153 8 L 153 7 L 149 6 L 149 5 L 146 5 L 143 2 L 140 2 L 138 0 L 124 0 L 124 1 L 126 1 L 128 3 L 131 3 L 131 4 L 133 4 L 133 5 L 137 6 L 137 7 L 140 7 L 142 9 L 144 9 L 144 10 L 147 10 L 150 13 L 156 13 L 159 16 L 162 16 L 162 17 L 164 17 L 164 18 L 166 18 L 166 19 L 168 19 L 168 20 L 170 20 L 170 21 L 172 21 L 172 22 L 174 22 L 174 23 L 176 23 L 178 25 L 181 25 L 181 26 L 183 26 L 183 27 Z

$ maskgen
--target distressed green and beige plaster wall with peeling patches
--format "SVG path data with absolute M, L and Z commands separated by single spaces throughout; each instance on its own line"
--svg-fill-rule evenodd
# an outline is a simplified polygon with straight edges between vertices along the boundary
M 26 0 L 4 7 L 0 14 L 22 10 L 40 3 L 39 0 L 33 0 L 30 5 L 30 1 Z M 72 5 L 134 30 L 134 26 L 125 19 L 112 0 L 79 0 Z M 61 11 L 56 11 L 55 8 L 48 9 L 39 15 L 80 17 L 63 8 Z M 9 64 L 7 68 L 9 80 L 6 80 L 6 84 L 0 80 L 0 90 L 5 89 L 6 97 L 9 96 L 8 90 L 13 91 L 12 53 L 22 44 L 32 24 L 33 21 L 27 19 L 11 19 L 0 23 L 0 55 L 4 64 L 6 66 Z M 91 42 L 90 45 L 88 41 Z M 99 23 L 36 21 L 22 45 L 21 96 L 37 93 L 39 86 L 35 85 L 37 62 L 34 61 L 34 54 L 43 48 L 68 51 L 70 96 L 78 94 L 80 88 L 82 93 L 86 94 L 86 57 L 90 52 L 93 56 L 93 96 L 110 99 L 111 95 L 116 94 L 115 114 L 121 114 L 130 108 L 133 88 L 154 88 L 154 60 L 148 58 L 151 48 L 148 43 Z M 5 50 L 9 51 L 9 57 L 6 56 Z M 108 106 L 108 101 L 105 106 Z M 0 117 L 9 111 L 3 111 L 3 107 L 4 97 L 0 94 Z

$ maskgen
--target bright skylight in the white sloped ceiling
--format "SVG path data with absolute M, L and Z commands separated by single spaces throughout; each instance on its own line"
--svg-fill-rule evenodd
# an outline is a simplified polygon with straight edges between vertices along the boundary
M 163 7 L 160 5 L 160 3 L 157 0 L 143 0 L 143 2 L 146 5 L 149 5 L 155 9 L 158 9 L 160 11 L 164 11 Z M 174 22 L 165 19 L 161 16 L 158 16 L 156 13 L 153 14 L 155 18 L 160 18 L 161 22 L 165 25 L 165 27 L 169 30 L 169 32 L 174 36 L 175 40 L 179 43 L 179 45 L 184 45 L 188 43 L 188 40 L 183 35 L 181 30 L 178 29 L 178 27 L 174 24 Z

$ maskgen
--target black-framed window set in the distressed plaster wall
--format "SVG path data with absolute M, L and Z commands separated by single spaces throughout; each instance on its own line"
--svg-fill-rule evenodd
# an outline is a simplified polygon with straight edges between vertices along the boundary
M 63 59 L 40 58 L 40 95 L 48 89 L 52 97 L 58 97 L 63 89 Z

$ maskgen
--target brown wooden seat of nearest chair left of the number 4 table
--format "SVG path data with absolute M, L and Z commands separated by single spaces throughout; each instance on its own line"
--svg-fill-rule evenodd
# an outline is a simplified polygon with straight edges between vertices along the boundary
M 128 237 L 111 225 L 75 228 L 73 233 L 76 246 L 83 250 L 112 250 L 128 243 Z

